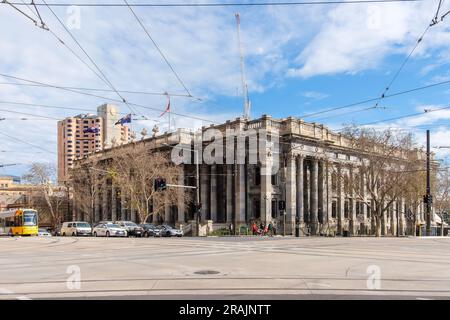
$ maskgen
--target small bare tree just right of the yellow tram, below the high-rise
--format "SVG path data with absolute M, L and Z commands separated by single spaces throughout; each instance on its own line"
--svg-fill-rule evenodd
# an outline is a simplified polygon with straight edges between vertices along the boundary
M 60 210 L 62 202 L 68 201 L 67 193 L 62 189 L 58 190 L 53 184 L 55 177 L 56 168 L 48 163 L 33 163 L 23 176 L 24 181 L 35 186 L 30 194 L 30 203 L 48 210 L 53 227 L 56 227 L 63 218 Z

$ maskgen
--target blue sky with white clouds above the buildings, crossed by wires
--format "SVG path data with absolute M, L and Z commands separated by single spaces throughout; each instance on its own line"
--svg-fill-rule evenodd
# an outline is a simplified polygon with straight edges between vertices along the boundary
M 39 2 L 39 1 L 38 1 Z M 64 2 L 58 0 L 57 2 Z M 108 2 L 119 2 L 111 0 Z M 136 1 L 137 2 L 137 1 Z M 291 7 L 240 7 L 252 116 L 303 117 L 327 108 L 376 98 L 391 81 L 418 36 L 436 12 L 438 1 L 416 3 L 341 4 Z M 23 8 L 28 10 L 27 8 Z M 64 22 L 72 12 L 55 8 Z M 189 90 L 202 101 L 172 97 L 172 110 L 221 122 L 242 114 L 239 53 L 234 13 L 237 8 L 136 8 L 148 30 Z M 444 4 L 442 13 L 450 10 Z M 82 52 L 46 8 L 43 20 L 80 56 Z M 115 87 L 121 90 L 183 93 L 127 8 L 81 8 L 80 28 L 71 30 Z M 450 16 L 433 26 L 392 85 L 390 93 L 450 80 Z M 49 32 L 41 30 L 12 8 L 0 6 L 0 73 L 61 86 L 105 88 L 91 70 L 78 61 Z M 85 61 L 88 61 L 83 57 Z M 0 83 L 21 82 L 0 76 Z M 117 99 L 114 93 L 101 95 Z M 126 94 L 129 101 L 164 109 L 164 96 Z M 446 107 L 450 85 L 385 99 L 382 109 L 354 112 L 373 106 L 355 106 L 305 117 L 306 121 L 340 128 L 343 123 L 368 123 L 424 109 Z M 4 102 L 48 104 L 79 108 L 58 110 Z M 62 90 L 0 84 L 0 109 L 64 118 L 84 110 L 95 111 L 108 102 Z M 129 112 L 121 105 L 121 111 Z M 137 108 L 139 114 L 159 120 L 160 112 Z M 340 113 L 345 115 L 339 116 Z M 0 132 L 56 152 L 56 121 L 17 120 L 24 115 L 0 111 Z M 31 117 L 31 116 L 29 116 Z M 415 118 L 388 121 L 416 133 L 424 143 L 424 128 L 432 129 L 433 145 L 450 145 L 450 110 Z M 195 128 L 207 122 L 173 116 L 178 127 Z M 135 121 L 133 129 L 149 130 L 154 121 Z M 413 127 L 415 126 L 415 127 Z M 0 169 L 21 175 L 33 161 L 55 162 L 54 154 L 13 139 L 0 137 L 0 164 L 23 165 Z M 12 152 L 14 151 L 14 152 Z M 450 149 L 436 149 L 445 158 Z

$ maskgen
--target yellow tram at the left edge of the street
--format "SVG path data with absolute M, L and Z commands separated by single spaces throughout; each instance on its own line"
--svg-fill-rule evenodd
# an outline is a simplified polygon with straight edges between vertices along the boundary
M 33 209 L 14 209 L 0 212 L 0 234 L 36 236 L 38 213 Z

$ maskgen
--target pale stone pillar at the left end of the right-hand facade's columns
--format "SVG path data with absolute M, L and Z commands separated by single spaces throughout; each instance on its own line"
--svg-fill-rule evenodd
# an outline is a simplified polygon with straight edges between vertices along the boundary
M 287 155 L 286 168 L 286 232 L 295 234 L 295 217 L 297 215 L 297 181 L 296 163 L 293 154 Z

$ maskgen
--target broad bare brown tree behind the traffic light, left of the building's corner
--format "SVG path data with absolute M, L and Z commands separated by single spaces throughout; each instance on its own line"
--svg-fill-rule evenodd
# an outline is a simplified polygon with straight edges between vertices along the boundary
M 112 172 L 113 181 L 121 192 L 129 195 L 131 208 L 137 211 L 141 222 L 150 215 L 162 215 L 166 205 L 176 204 L 179 200 L 181 195 L 177 188 L 168 187 L 164 192 L 154 188 L 158 177 L 164 178 L 167 184 L 183 184 L 179 181 L 181 167 L 170 161 L 169 153 L 150 150 L 144 144 L 133 144 L 114 150 L 112 159 L 108 170 Z M 186 201 L 186 196 L 182 201 Z

